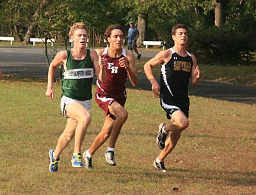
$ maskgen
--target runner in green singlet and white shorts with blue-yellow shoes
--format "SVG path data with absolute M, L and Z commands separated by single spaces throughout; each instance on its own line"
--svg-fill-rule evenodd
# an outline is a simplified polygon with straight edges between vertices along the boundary
M 60 51 L 49 66 L 47 91 L 45 95 L 51 101 L 54 98 L 53 77 L 57 66 L 61 65 L 61 111 L 67 118 L 67 126 L 58 139 L 55 149 L 49 150 L 49 170 L 58 171 L 58 161 L 61 152 L 75 137 L 74 153 L 71 163 L 74 168 L 83 168 L 81 159 L 81 145 L 86 129 L 91 121 L 90 109 L 92 107 L 92 79 L 95 72 L 98 79 L 104 82 L 104 59 L 98 59 L 95 51 L 86 49 L 88 38 L 87 27 L 82 22 L 73 24 L 69 37 L 74 47 L 67 51 Z

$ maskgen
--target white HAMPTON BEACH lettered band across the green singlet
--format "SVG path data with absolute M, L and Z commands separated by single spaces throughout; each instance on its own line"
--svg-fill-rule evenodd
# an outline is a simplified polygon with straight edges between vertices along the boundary
M 66 70 L 64 79 L 89 79 L 93 77 L 93 68 L 77 68 Z

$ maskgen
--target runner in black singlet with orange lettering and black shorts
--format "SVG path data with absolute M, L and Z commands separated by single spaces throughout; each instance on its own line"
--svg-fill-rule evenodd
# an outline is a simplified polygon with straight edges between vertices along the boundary
M 166 111 L 168 123 L 160 123 L 156 143 L 161 152 L 154 160 L 154 167 L 166 172 L 164 159 L 172 152 L 180 138 L 182 130 L 189 125 L 188 84 L 197 85 L 200 70 L 196 57 L 190 54 L 188 48 L 188 29 L 184 24 L 172 27 L 174 46 L 159 52 L 154 58 L 145 63 L 144 70 L 152 84 L 155 97 L 160 97 L 160 104 Z M 161 84 L 159 86 L 152 72 L 152 67 L 161 67 Z M 159 94 L 160 91 L 160 94 Z M 170 132 L 170 137 L 168 134 Z

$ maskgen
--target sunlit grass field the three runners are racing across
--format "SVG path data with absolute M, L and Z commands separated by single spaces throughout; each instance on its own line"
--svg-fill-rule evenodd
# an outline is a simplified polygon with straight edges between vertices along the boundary
M 51 103 L 45 82 L 0 81 L 0 194 L 255 194 L 256 105 L 191 97 L 190 125 L 165 160 L 168 172 L 160 173 L 152 162 L 165 114 L 152 92 L 128 90 L 129 119 L 116 144 L 117 166 L 104 161 L 106 143 L 93 156 L 92 171 L 72 168 L 72 141 L 52 174 L 48 150 L 66 123 L 60 84 L 55 88 Z M 83 151 L 103 121 L 93 102 Z

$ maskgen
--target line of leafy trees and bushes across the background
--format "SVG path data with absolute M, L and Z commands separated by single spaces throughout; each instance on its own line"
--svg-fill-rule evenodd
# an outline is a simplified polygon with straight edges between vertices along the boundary
M 250 61 L 256 50 L 255 0 L 0 0 L 0 36 L 15 36 L 23 44 L 30 37 L 55 38 L 68 43 L 74 22 L 88 25 L 92 46 L 103 45 L 104 30 L 129 21 L 143 40 L 161 40 L 172 46 L 170 29 L 189 28 L 189 51 L 205 59 Z

